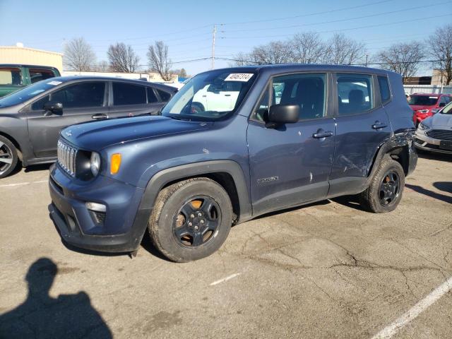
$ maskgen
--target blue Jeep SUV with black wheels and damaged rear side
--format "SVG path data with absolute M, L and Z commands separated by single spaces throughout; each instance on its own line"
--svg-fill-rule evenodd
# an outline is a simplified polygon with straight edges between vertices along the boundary
M 398 74 L 274 65 L 198 74 L 160 116 L 61 131 L 50 170 L 65 242 L 136 254 L 146 230 L 172 261 L 220 248 L 232 225 L 357 194 L 394 210 L 415 169 L 415 126 Z

